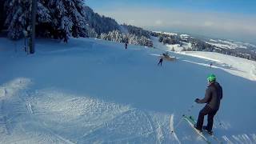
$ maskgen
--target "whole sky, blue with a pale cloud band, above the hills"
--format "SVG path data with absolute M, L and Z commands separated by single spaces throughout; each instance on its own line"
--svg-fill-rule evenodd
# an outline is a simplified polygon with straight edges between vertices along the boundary
M 86 0 L 86 5 L 148 30 L 256 43 L 256 0 Z

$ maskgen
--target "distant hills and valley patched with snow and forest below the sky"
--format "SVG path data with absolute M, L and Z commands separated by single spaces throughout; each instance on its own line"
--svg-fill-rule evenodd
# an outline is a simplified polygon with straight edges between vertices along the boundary
M 158 37 L 159 42 L 176 45 L 183 51 L 218 52 L 256 61 L 256 46 L 248 42 L 220 38 L 194 38 L 188 34 L 166 32 L 152 32 L 152 35 Z

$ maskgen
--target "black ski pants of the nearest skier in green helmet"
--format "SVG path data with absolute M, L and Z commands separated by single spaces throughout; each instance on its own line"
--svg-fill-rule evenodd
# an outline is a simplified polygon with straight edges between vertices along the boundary
M 218 110 L 212 110 L 210 106 L 207 106 L 207 105 L 202 110 L 200 110 L 198 115 L 198 122 L 197 122 L 198 130 L 202 130 L 203 119 L 205 115 L 208 115 L 208 123 L 207 123 L 206 129 L 211 131 L 214 125 L 214 115 L 217 113 L 217 111 Z

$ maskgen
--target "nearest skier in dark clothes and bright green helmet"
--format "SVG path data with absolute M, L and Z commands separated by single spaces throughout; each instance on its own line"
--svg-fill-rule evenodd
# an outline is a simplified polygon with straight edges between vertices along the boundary
M 221 103 L 222 86 L 220 86 L 220 84 L 216 82 L 216 76 L 214 74 L 210 74 L 207 80 L 208 88 L 206 89 L 205 98 L 195 99 L 195 102 L 197 103 L 206 103 L 206 106 L 200 111 L 198 115 L 198 122 L 194 127 L 199 131 L 202 131 L 203 128 L 209 134 L 213 134 L 212 128 L 214 124 L 214 115 L 217 113 Z M 208 124 L 207 126 L 202 126 L 205 115 L 208 115 Z

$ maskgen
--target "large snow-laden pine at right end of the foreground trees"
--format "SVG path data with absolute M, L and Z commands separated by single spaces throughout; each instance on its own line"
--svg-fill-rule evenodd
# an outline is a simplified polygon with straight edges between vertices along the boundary
M 82 30 L 86 22 L 82 15 L 82 1 L 80 0 L 50 0 L 48 9 L 53 18 L 51 25 L 55 33 L 62 36 L 85 36 Z M 64 35 L 63 35 L 64 34 Z

